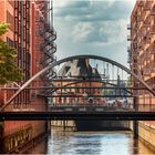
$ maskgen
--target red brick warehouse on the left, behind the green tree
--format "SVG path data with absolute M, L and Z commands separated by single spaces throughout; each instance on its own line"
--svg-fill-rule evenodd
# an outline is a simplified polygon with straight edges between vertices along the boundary
M 43 9 L 42 10 L 42 6 Z M 22 85 L 30 76 L 34 75 L 42 69 L 41 62 L 44 54 L 41 52 L 39 44 L 43 44 L 44 35 L 41 35 L 40 30 L 44 30 L 44 23 L 39 22 L 43 17 L 42 11 L 46 11 L 48 1 L 0 1 L 0 22 L 10 23 L 10 30 L 3 35 L 3 40 L 18 50 L 17 63 L 22 69 L 23 79 L 17 84 Z M 44 83 L 39 79 L 41 85 Z M 37 83 L 32 83 L 35 85 Z M 14 92 L 6 91 L 0 93 L 1 104 L 7 101 Z M 21 104 L 22 103 L 22 104 Z M 34 111 L 46 110 L 45 100 L 38 96 L 35 91 L 24 90 L 13 101 L 7 110 L 27 110 Z M 22 147 L 33 138 L 45 133 L 46 122 L 44 121 L 12 121 L 1 123 L 3 126 L 4 151 L 11 153 L 14 148 Z

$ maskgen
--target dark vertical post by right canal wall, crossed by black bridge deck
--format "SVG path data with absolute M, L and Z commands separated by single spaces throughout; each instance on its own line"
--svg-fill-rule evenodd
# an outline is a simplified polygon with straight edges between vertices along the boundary
M 138 111 L 137 106 L 137 96 L 134 96 L 134 110 Z M 133 132 L 134 132 L 134 140 L 138 140 L 138 121 L 133 121 Z

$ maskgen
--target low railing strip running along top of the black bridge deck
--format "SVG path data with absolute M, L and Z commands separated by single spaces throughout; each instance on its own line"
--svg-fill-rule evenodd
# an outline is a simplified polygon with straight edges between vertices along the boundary
M 40 107 L 40 108 L 39 108 Z M 69 110 L 70 108 L 70 110 Z M 137 111 L 137 112 L 155 112 L 155 104 L 138 104 L 136 110 L 132 103 L 128 104 L 90 104 L 90 103 L 49 103 L 46 107 L 40 106 L 40 103 L 34 104 L 10 104 L 6 111 L 8 112 L 49 112 L 49 111 L 79 111 L 80 108 L 85 108 L 84 111 Z

